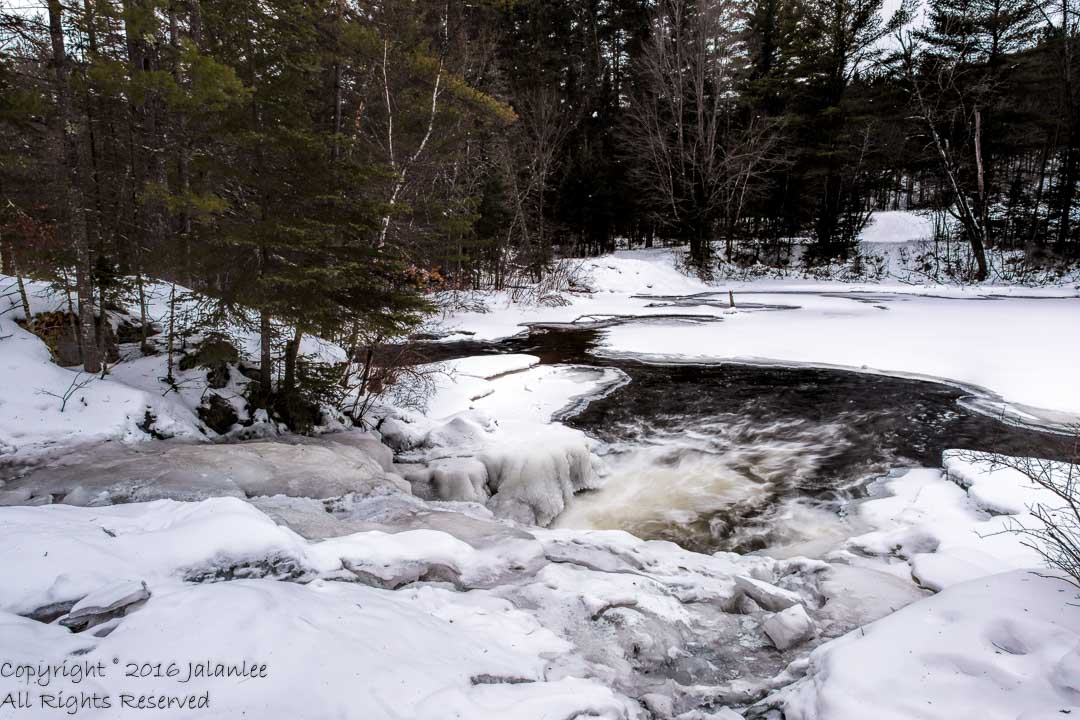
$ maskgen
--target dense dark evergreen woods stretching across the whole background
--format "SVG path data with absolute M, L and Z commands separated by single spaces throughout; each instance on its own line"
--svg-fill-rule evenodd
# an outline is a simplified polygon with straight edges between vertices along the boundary
M 1078 10 L 2 0 L 3 272 L 70 290 L 87 371 L 100 308 L 198 290 L 258 324 L 269 396 L 305 334 L 355 349 L 619 242 L 812 263 L 926 208 L 973 280 L 1076 257 Z

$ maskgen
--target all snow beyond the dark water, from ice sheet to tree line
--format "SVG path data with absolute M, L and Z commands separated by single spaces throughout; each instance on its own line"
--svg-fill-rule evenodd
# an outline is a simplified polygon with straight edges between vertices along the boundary
M 915 252 L 926 218 L 876 214 L 868 242 Z M 556 307 L 488 294 L 487 312 L 444 317 L 473 339 L 526 325 L 593 326 L 599 354 L 651 362 L 813 365 L 943 380 L 978 395 L 972 405 L 1016 422 L 1063 426 L 1080 417 L 1078 287 L 815 281 L 718 281 L 678 269 L 677 249 L 625 250 L 575 261 L 590 293 Z M 735 308 L 729 308 L 734 294 Z M 703 324 L 705 323 L 705 324 Z

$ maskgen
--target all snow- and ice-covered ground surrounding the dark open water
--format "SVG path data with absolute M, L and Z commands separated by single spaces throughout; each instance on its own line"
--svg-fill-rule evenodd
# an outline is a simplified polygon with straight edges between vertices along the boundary
M 713 286 L 673 259 L 599 258 L 567 305 L 491 296 L 444 320 L 485 339 L 590 323 L 604 353 L 932 376 L 1028 422 L 1080 415 L 1076 287 Z M 215 444 L 198 376 L 162 394 L 160 357 L 59 412 L 41 391 L 78 375 L 17 314 L 0 314 L 17 381 L 0 392 L 0 452 L 37 466 L 0 485 L 0 717 L 122 718 L 139 702 L 172 702 L 162 718 L 1080 712 L 1078 590 L 1032 573 L 1038 553 L 1008 532 L 1051 499 L 987 456 L 878 479 L 813 559 L 704 555 L 551 527 L 602 481 L 596 440 L 558 421 L 626 382 L 616 369 L 451 361 L 426 369 L 426 411 L 378 407 L 375 432 Z M 171 440 L 140 429 L 147 409 Z

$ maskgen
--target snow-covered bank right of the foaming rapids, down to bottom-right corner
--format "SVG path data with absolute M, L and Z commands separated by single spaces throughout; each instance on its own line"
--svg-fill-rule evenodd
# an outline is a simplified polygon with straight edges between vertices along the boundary
M 820 647 L 807 678 L 762 706 L 791 720 L 864 718 L 867 707 L 886 720 L 1080 710 L 1080 595 L 1032 572 L 1039 554 L 1009 532 L 1038 522 L 1031 508 L 1057 503 L 1014 468 L 1017 459 L 948 451 L 944 465 L 885 478 L 858 506 L 877 529 L 827 558 L 885 562 L 939 594 Z

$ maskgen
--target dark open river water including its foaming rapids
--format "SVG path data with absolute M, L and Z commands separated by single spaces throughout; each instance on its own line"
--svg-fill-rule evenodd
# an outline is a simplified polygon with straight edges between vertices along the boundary
M 534 328 L 499 343 L 426 349 L 430 361 L 524 352 L 629 376 L 563 419 L 600 441 L 606 476 L 557 520 L 565 527 L 700 552 L 813 555 L 858 530 L 848 510 L 891 470 L 939 467 L 946 449 L 1066 458 L 1062 436 L 967 409 L 967 393 L 950 385 L 806 367 L 651 365 L 594 354 L 599 334 Z

